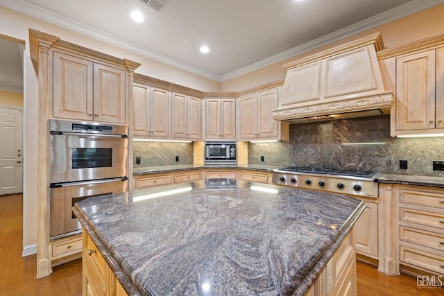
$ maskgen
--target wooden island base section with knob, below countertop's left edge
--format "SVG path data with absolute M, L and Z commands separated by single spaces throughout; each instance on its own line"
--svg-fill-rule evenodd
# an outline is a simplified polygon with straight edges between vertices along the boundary
M 89 235 L 83 232 L 83 295 L 127 296 Z

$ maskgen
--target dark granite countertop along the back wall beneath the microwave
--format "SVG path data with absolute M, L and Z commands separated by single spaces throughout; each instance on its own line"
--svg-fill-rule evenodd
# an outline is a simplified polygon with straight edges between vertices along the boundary
M 169 172 L 178 172 L 178 171 L 190 171 L 190 170 L 200 170 L 200 169 L 212 169 L 212 168 L 244 168 L 253 171 L 265 171 L 271 173 L 278 166 L 263 166 L 259 164 L 254 165 L 245 165 L 245 166 L 237 166 L 237 165 L 205 165 L 205 166 L 196 166 L 194 164 L 182 164 L 177 166 L 148 166 L 142 168 L 134 168 L 133 175 L 145 175 L 151 173 L 169 173 Z

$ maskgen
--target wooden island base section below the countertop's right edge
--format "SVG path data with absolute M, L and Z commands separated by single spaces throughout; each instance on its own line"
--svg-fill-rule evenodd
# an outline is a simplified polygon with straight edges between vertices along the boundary
M 356 252 L 353 230 L 345 236 L 305 295 L 356 295 Z

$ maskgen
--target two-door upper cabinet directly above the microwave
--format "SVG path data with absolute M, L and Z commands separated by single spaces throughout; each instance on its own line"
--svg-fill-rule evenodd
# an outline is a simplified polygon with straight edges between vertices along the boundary
M 236 99 L 205 100 L 205 139 L 236 139 Z

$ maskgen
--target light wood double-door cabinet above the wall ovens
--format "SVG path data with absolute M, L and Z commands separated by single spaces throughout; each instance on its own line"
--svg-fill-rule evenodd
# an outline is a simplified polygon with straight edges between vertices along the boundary
M 125 98 L 125 69 L 54 51 L 54 117 L 126 123 Z

